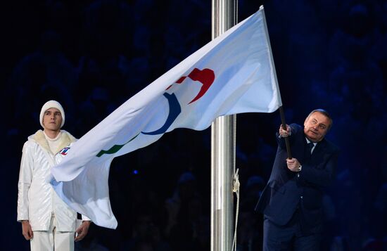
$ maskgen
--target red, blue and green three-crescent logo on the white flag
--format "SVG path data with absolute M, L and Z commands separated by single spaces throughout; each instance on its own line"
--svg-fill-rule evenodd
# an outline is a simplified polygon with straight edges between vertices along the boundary
M 189 73 L 189 75 L 180 77 L 177 80 L 177 82 L 175 82 L 175 84 L 189 84 L 190 82 L 188 82 L 188 83 L 184 82 L 186 77 L 189 77 L 190 79 L 192 79 L 194 81 L 198 81 L 198 82 L 200 82 L 202 84 L 201 89 L 198 92 L 198 94 L 189 103 L 187 103 L 186 105 L 194 103 L 195 101 L 198 101 L 198 99 L 203 97 L 203 95 L 208 91 L 208 89 L 210 88 L 210 86 L 212 85 L 212 83 L 215 80 L 215 74 L 214 74 L 213 70 L 210 70 L 208 68 L 205 68 L 203 70 L 199 70 L 198 68 L 194 68 L 194 70 L 192 70 Z M 168 88 L 166 90 L 170 89 L 173 85 L 174 84 L 171 84 L 170 86 L 168 86 Z M 173 124 L 173 122 L 175 122 L 177 117 L 179 117 L 179 114 L 182 112 L 182 106 L 180 105 L 179 100 L 177 99 L 177 96 L 175 95 L 175 93 L 168 94 L 167 92 L 165 92 L 163 94 L 163 96 L 165 98 L 167 98 L 168 105 L 169 105 L 169 108 L 170 108 L 168 116 L 167 116 L 167 120 L 165 120 L 165 123 L 159 129 L 156 129 L 155 131 L 141 131 L 141 133 L 139 133 L 139 134 L 145 134 L 145 135 L 165 134 L 167 129 L 170 128 L 170 126 Z M 129 143 L 130 141 L 136 139 L 137 136 L 139 136 L 139 134 L 137 134 L 132 139 L 127 141 L 127 143 Z M 101 150 L 96 155 L 96 157 L 101 157 L 103 154 L 117 153 L 118 150 L 120 150 L 127 143 L 125 143 L 123 145 L 114 145 L 109 150 Z

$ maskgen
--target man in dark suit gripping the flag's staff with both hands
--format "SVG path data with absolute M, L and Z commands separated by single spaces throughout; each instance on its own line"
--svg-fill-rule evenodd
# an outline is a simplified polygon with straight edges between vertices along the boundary
M 263 250 L 319 250 L 323 189 L 334 181 L 339 151 L 324 139 L 331 126 L 328 112 L 317 109 L 307 116 L 304 127 L 279 128 L 272 174 L 256 208 L 264 214 Z

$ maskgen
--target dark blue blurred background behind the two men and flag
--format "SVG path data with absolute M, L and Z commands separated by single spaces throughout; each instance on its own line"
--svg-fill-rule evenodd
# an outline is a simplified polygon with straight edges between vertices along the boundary
M 383 240 L 386 250 L 386 1 L 240 0 L 239 21 L 261 4 L 286 121 L 303 124 L 314 108 L 334 118 L 328 138 L 342 151 L 324 200 L 324 250 L 381 250 Z M 1 243 L 27 250 L 16 222 L 18 171 L 43 103 L 60 101 L 63 129 L 80 138 L 210 41 L 211 1 L 12 1 L 1 4 L 0 16 Z M 239 250 L 249 241 L 260 247 L 262 216 L 253 207 L 271 170 L 279 123 L 278 112 L 237 116 Z M 92 225 L 78 248 L 209 250 L 210 129 L 176 129 L 116 158 L 110 196 L 118 229 Z M 181 207 L 168 231 L 165 205 L 176 198 Z

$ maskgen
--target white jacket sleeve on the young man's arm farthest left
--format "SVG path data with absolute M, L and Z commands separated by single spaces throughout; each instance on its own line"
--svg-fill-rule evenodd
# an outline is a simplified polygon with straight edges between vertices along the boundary
M 34 171 L 33 146 L 26 142 L 23 146 L 22 160 L 20 162 L 20 172 L 18 181 L 18 221 L 27 220 L 28 214 L 28 191 L 32 182 Z

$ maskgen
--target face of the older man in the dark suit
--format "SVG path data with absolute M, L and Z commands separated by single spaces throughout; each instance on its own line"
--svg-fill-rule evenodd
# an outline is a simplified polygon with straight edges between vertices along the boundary
M 321 112 L 313 112 L 304 122 L 304 133 L 312 142 L 319 142 L 324 139 L 329 129 L 330 121 Z

